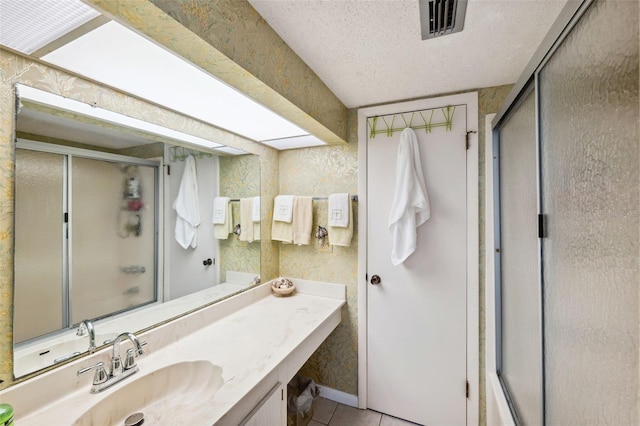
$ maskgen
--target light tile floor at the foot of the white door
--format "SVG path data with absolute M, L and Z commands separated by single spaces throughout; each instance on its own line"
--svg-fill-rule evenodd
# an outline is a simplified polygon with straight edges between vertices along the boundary
M 415 426 L 371 410 L 358 410 L 325 398 L 314 401 L 313 419 L 308 426 Z

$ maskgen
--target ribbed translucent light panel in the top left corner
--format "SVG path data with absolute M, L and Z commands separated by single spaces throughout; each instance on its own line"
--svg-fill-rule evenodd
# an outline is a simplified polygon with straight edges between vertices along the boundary
M 78 0 L 0 0 L 0 44 L 30 55 L 99 15 Z

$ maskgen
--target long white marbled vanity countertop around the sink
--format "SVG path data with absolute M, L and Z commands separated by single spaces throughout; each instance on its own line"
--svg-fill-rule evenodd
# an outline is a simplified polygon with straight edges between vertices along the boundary
M 224 384 L 198 410 L 198 424 L 237 424 L 277 381 L 290 379 L 340 322 L 344 286 L 294 281 L 298 292 L 291 297 L 272 295 L 265 283 L 140 335 L 148 342 L 138 358 L 140 371 L 99 394 L 89 393 L 91 373 L 77 377 L 76 372 L 98 361 L 108 365 L 111 348 L 5 389 L 0 402 L 14 406 L 23 426 L 72 424 L 145 374 L 176 362 L 207 360 L 222 368 Z M 169 423 L 178 419 L 168 415 Z

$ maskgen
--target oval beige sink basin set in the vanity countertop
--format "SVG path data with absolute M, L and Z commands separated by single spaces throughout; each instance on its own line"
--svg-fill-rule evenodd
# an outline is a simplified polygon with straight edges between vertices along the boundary
M 204 424 L 201 416 L 223 384 L 222 368 L 209 361 L 179 362 L 143 374 L 116 384 L 73 424 L 124 425 L 135 413 L 144 415 L 145 425 Z

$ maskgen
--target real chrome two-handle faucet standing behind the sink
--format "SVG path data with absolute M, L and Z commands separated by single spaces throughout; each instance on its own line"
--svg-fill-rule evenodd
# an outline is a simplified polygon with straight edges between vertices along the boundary
M 133 348 L 127 350 L 127 355 L 124 364 L 121 361 L 119 354 L 120 342 L 124 339 L 129 339 L 133 344 Z M 78 370 L 78 375 L 86 373 L 87 371 L 95 369 L 95 375 L 93 376 L 93 383 L 91 386 L 91 393 L 102 392 L 103 390 L 110 388 L 121 380 L 126 379 L 138 372 L 138 365 L 135 358 L 140 355 L 144 355 L 142 347 L 146 345 L 146 342 L 140 342 L 133 333 L 121 333 L 113 339 L 113 350 L 111 352 L 111 367 L 109 372 L 105 370 L 104 363 L 99 362 L 95 365 L 82 368 Z

